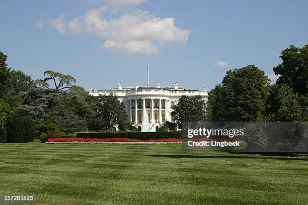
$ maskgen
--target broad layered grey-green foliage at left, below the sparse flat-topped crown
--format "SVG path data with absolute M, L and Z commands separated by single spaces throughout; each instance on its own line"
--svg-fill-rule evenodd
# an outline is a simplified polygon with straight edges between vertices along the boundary
M 22 116 L 29 115 L 34 119 L 37 131 L 42 123 L 49 120 L 66 134 L 85 130 L 85 116 L 92 112 L 80 92 L 39 87 L 32 88 L 24 94 L 23 103 L 17 110 Z

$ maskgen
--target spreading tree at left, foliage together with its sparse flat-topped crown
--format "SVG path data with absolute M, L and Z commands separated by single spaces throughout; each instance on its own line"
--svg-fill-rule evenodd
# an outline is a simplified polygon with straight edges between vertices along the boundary
M 37 131 L 48 120 L 67 134 L 85 130 L 86 114 L 94 112 L 86 102 L 88 93 L 79 86 L 71 85 L 75 80 L 70 75 L 53 71 L 45 71 L 44 74 L 49 78 L 42 80 L 44 82 L 39 83 L 40 87 L 30 88 L 22 95 L 23 102 L 17 112 L 22 116 L 31 116 Z M 49 80 L 55 80 L 55 88 L 46 84 Z

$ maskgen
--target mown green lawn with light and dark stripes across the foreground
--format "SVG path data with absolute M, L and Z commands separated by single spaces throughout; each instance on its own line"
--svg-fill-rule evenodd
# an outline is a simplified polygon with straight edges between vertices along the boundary
M 308 204 L 308 155 L 0 143 L 0 170 L 0 195 L 34 204 Z

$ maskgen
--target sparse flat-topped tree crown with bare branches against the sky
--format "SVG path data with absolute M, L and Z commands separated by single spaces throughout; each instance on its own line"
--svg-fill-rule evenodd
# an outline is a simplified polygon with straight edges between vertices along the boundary
M 48 81 L 52 81 L 54 83 L 54 89 L 59 91 L 67 88 L 71 88 L 74 85 L 72 83 L 76 82 L 76 79 L 71 75 L 64 75 L 59 72 L 54 72 L 52 70 L 45 70 L 44 75 L 47 75 L 46 78 L 41 80 L 36 80 L 35 84 L 39 87 L 52 89 Z

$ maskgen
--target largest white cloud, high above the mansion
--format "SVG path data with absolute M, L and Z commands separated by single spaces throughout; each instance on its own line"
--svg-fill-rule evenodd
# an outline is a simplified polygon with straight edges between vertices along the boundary
M 118 2 L 124 2 L 119 1 Z M 126 2 L 142 2 L 130 0 Z M 168 45 L 170 42 L 185 43 L 190 30 L 175 26 L 174 18 L 159 18 L 140 10 L 132 10 L 120 18 L 104 19 L 102 15 L 109 9 L 102 6 L 90 10 L 81 17 L 71 21 L 59 15 L 47 22 L 49 27 L 59 33 L 91 33 L 106 40 L 103 48 L 124 53 L 158 53 L 158 45 Z M 132 46 L 131 48 L 128 48 Z M 149 49 L 149 50 L 143 50 Z

